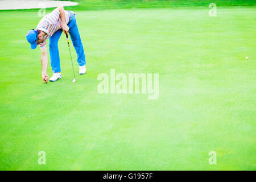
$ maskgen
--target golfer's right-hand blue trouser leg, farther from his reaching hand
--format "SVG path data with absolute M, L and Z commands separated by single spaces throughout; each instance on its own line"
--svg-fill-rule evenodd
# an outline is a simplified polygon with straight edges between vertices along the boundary
M 79 63 L 80 66 L 83 66 L 86 64 L 84 47 L 82 46 L 82 40 L 80 38 L 79 30 L 77 28 L 75 15 L 72 15 L 72 20 L 68 23 L 68 27 L 73 46 L 75 47 L 77 53 L 77 63 Z

